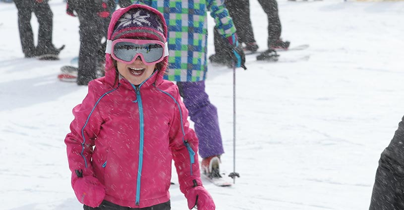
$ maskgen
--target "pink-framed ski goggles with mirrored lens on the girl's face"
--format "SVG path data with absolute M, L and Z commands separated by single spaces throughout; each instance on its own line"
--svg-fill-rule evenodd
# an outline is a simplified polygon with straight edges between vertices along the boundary
M 158 63 L 169 55 L 167 42 L 157 40 L 107 40 L 105 52 L 111 54 L 115 60 L 126 64 L 133 63 L 140 56 L 147 65 Z

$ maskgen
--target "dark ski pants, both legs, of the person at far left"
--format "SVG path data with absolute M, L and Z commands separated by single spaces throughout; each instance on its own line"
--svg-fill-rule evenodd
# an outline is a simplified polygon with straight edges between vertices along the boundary
M 45 52 L 35 52 L 34 35 L 31 27 L 32 12 L 34 12 L 39 23 L 37 50 L 42 51 L 50 48 L 54 50 L 52 44 L 53 13 L 48 1 L 44 0 L 38 3 L 36 0 L 14 0 L 14 3 L 18 10 L 18 29 L 22 52 L 25 56 L 32 57 L 35 54 L 45 54 Z

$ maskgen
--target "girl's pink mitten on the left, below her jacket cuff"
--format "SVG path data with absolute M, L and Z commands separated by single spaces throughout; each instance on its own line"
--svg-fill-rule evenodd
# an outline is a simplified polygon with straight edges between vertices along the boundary
M 89 207 L 99 207 L 105 197 L 105 188 L 94 176 L 77 179 L 73 186 L 78 201 Z

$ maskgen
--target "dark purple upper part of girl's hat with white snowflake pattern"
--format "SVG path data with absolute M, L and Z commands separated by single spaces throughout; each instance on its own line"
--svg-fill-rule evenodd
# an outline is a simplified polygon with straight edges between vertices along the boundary
M 163 24 L 159 17 L 144 9 L 131 9 L 124 13 L 117 21 L 114 31 L 132 27 L 153 28 L 164 34 Z

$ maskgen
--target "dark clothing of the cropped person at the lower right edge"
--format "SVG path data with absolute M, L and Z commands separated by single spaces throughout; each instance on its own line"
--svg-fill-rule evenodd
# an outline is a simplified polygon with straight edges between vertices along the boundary
M 382 152 L 369 210 L 404 209 L 404 117 Z

